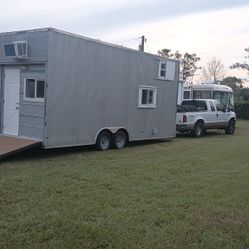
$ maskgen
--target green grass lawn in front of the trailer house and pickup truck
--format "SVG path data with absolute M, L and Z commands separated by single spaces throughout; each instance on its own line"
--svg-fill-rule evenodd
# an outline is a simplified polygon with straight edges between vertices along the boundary
M 0 248 L 249 248 L 249 122 L 233 136 L 0 162 Z

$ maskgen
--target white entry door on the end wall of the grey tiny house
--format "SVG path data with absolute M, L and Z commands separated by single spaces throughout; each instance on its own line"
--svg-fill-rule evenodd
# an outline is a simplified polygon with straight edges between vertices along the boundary
M 18 136 L 20 69 L 4 69 L 3 133 Z

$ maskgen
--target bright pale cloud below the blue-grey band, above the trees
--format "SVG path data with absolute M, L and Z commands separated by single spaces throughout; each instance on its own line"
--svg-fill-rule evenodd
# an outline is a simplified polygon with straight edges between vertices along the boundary
M 220 58 L 231 75 L 242 72 L 229 70 L 235 62 L 244 61 L 244 48 L 249 46 L 249 6 L 212 12 L 177 16 L 171 19 L 138 24 L 116 32 L 102 32 L 101 40 L 137 49 L 141 35 L 147 38 L 146 51 L 157 53 L 163 48 L 181 53 L 196 53 L 205 66 L 213 56 Z

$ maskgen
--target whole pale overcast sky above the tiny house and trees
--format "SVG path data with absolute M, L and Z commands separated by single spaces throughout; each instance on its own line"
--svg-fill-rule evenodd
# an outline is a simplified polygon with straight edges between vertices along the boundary
M 213 56 L 227 74 L 249 47 L 249 0 L 12 0 L 1 2 L 0 32 L 54 27 L 145 50 L 196 53 L 205 66 Z M 242 76 L 239 74 L 239 76 Z M 243 76 L 244 77 L 244 76 Z

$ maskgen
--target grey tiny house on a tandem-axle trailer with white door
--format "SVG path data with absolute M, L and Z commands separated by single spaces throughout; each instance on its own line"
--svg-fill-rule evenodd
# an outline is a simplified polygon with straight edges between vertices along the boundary
M 179 62 L 53 28 L 0 34 L 0 133 L 43 148 L 175 136 Z

